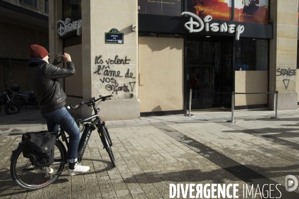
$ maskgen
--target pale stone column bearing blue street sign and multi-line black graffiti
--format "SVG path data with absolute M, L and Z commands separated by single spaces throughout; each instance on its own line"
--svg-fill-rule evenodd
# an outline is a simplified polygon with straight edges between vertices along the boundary
M 124 33 L 124 44 L 105 44 L 105 32 L 112 28 Z M 82 64 L 83 100 L 114 92 L 98 106 L 102 119 L 140 117 L 137 0 L 82 0 Z M 90 112 L 84 107 L 83 118 Z

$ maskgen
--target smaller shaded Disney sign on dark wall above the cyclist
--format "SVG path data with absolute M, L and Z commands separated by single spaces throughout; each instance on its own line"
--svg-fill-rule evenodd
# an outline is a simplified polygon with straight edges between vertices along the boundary
M 70 18 L 66 18 L 65 21 L 58 20 L 57 24 L 59 24 L 58 34 L 62 37 L 66 35 L 68 32 L 77 30 L 77 35 L 81 35 L 81 27 L 82 27 L 82 20 L 79 19 L 77 21 L 72 21 Z

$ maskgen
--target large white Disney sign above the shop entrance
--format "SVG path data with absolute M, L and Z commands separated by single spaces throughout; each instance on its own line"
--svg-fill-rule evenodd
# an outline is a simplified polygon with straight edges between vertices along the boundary
M 211 15 L 207 15 L 206 17 L 204 17 L 204 22 L 203 20 L 197 16 L 196 14 L 192 13 L 192 12 L 182 12 L 181 15 L 189 15 L 190 20 L 189 22 L 185 23 L 184 26 L 185 28 L 187 28 L 189 30 L 189 32 L 200 32 L 201 30 L 203 30 L 205 28 L 205 31 L 208 32 L 210 29 L 212 32 L 228 32 L 228 33 L 234 33 L 236 32 L 236 40 L 240 39 L 240 35 L 241 33 L 244 32 L 244 25 L 238 25 L 236 27 L 235 24 L 230 24 L 227 25 L 226 22 L 224 22 L 223 24 L 221 24 L 219 26 L 219 23 L 212 23 L 211 25 L 209 24 L 209 22 L 212 20 L 212 16 Z M 197 21 L 193 21 L 193 17 L 197 20 Z M 204 25 L 205 23 L 205 25 Z M 195 28 L 199 27 L 198 29 L 194 29 L 194 25 Z

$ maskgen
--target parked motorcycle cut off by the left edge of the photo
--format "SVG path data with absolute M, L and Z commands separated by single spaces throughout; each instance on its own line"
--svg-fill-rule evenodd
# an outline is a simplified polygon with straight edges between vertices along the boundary
M 0 107 L 2 105 L 5 105 L 4 111 L 7 115 L 17 114 L 20 112 L 19 105 L 9 100 L 9 98 L 11 98 L 11 95 L 12 95 L 11 91 L 7 90 L 6 86 L 4 92 L 0 93 Z

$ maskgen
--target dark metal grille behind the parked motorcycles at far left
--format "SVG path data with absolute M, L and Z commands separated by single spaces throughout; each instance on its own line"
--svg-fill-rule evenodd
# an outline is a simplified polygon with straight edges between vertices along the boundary
M 27 62 L 24 60 L 0 60 L 0 90 L 3 91 L 5 85 L 10 90 L 10 86 L 18 84 L 21 90 L 30 89 L 27 79 Z

